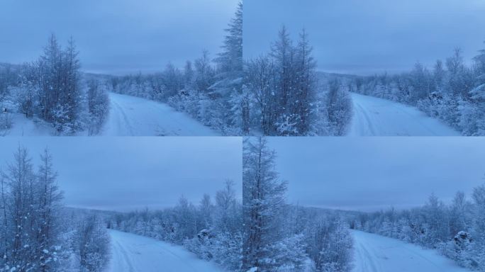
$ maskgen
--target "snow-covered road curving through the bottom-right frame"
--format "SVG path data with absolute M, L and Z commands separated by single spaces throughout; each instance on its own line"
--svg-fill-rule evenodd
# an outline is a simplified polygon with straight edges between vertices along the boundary
M 431 249 L 367 232 L 352 231 L 354 272 L 465 272 Z

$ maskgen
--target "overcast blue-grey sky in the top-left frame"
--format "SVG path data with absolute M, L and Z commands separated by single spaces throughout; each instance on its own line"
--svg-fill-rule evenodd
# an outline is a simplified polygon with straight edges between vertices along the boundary
M 50 33 L 74 37 L 82 69 L 126 74 L 215 56 L 238 0 L 1 0 L 0 62 L 35 60 Z

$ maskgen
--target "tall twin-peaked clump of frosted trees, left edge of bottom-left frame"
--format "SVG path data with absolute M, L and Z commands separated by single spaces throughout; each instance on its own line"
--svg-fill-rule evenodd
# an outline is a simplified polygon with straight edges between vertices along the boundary
M 1 182 L 0 270 L 57 271 L 63 229 L 62 194 L 52 158 L 45 150 L 37 173 L 28 152 L 18 147 Z

